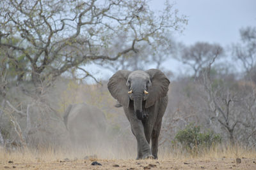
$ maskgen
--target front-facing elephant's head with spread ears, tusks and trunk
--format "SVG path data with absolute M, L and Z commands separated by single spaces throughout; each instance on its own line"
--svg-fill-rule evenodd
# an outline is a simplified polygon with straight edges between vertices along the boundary
M 129 107 L 133 101 L 134 113 L 142 120 L 147 117 L 143 113 L 142 103 L 145 101 L 145 108 L 153 106 L 157 100 L 166 96 L 170 81 L 158 69 L 148 71 L 117 71 L 108 83 L 111 95 L 124 107 Z

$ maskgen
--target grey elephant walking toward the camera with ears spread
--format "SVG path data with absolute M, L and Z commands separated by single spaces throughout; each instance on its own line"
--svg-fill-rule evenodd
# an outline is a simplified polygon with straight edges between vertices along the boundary
M 109 78 L 108 90 L 122 104 L 132 134 L 136 137 L 136 159 L 157 159 L 169 84 L 170 81 L 159 69 L 119 70 Z

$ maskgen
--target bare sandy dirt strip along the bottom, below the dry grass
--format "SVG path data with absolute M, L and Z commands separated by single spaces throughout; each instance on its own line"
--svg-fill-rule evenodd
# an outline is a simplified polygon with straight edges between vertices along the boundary
M 97 161 L 102 166 L 92 166 Z M 238 161 L 239 162 L 239 161 Z M 256 169 L 255 159 L 166 159 L 166 160 L 55 160 L 35 159 L 35 162 L 14 162 L 9 160 L 0 164 L 0 169 Z

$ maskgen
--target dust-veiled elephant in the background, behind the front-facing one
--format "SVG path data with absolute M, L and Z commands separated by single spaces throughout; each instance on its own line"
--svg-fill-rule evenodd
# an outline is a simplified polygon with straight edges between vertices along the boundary
M 70 104 L 63 120 L 73 146 L 91 148 L 105 138 L 106 117 L 95 106 L 86 103 Z

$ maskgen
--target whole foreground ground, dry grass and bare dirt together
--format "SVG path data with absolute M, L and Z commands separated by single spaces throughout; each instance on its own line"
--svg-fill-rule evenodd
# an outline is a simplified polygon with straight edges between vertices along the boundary
M 93 166 L 93 169 L 143 169 L 152 164 L 154 169 L 256 169 L 255 149 L 246 150 L 241 146 L 224 147 L 218 146 L 205 150 L 200 155 L 188 155 L 182 153 L 178 148 L 173 152 L 166 149 L 159 150 L 158 160 L 134 160 L 136 153 L 120 150 L 118 155 L 111 152 L 111 148 L 89 152 L 83 150 L 72 150 L 56 148 L 39 148 L 7 151 L 0 149 L 0 169 L 92 169 L 92 162 L 98 161 L 102 166 Z M 88 156 L 85 158 L 85 156 Z M 97 156 L 95 156 L 97 155 Z M 242 163 L 237 164 L 236 158 L 241 158 Z M 10 160 L 13 163 L 8 163 Z M 147 169 L 147 168 L 146 168 Z

